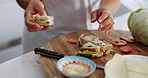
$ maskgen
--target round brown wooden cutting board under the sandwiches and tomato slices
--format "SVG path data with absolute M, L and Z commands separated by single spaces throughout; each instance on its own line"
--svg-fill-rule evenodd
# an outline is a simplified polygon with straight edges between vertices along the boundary
M 78 45 L 70 44 L 67 41 L 68 41 L 68 39 L 77 40 L 78 37 L 82 33 L 96 35 L 100 39 L 104 39 L 104 40 L 108 41 L 109 43 L 112 43 L 113 39 L 120 38 L 120 36 L 122 36 L 122 35 L 131 36 L 130 32 L 128 32 L 128 31 L 116 30 L 110 34 L 104 34 L 104 33 L 99 32 L 97 30 L 81 30 L 81 31 L 76 31 L 76 32 L 61 35 L 61 36 L 51 40 L 50 42 L 48 42 L 44 46 L 44 48 L 48 49 L 48 50 L 60 52 L 60 53 L 66 54 L 66 55 L 74 56 L 74 55 L 76 55 L 75 51 L 79 51 L 79 47 L 78 47 Z M 114 48 L 113 48 L 114 51 L 111 52 L 111 54 L 109 54 L 107 56 L 103 56 L 101 58 L 96 58 L 96 59 L 91 59 L 91 60 L 93 60 L 96 64 L 105 66 L 106 62 L 108 60 L 112 59 L 113 55 L 116 53 L 121 54 L 121 55 L 133 55 L 134 54 L 134 55 L 148 56 L 148 46 L 145 46 L 145 45 L 142 45 L 142 44 L 136 43 L 136 42 L 135 43 L 128 43 L 127 45 L 131 46 L 133 48 L 132 52 L 122 53 L 119 50 L 119 46 L 114 46 Z M 65 76 L 62 75 L 57 70 L 56 62 L 57 62 L 57 59 L 52 59 L 52 58 L 47 58 L 47 57 L 41 56 L 40 63 L 42 64 L 42 67 L 47 75 L 47 78 L 54 78 L 55 76 L 65 78 Z M 105 77 L 104 71 L 100 70 L 100 69 L 96 69 L 95 72 L 93 72 L 87 78 L 104 78 L 104 77 Z

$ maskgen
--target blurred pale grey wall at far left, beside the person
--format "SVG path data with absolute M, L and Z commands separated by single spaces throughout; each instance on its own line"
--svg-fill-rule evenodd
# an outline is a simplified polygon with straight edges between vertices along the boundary
M 24 27 L 23 13 L 16 0 L 0 0 L 0 49 L 20 39 Z

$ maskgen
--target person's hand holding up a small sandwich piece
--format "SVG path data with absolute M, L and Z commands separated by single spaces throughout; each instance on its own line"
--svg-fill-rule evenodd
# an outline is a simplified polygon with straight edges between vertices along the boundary
M 47 30 L 50 26 L 41 26 L 33 21 L 34 15 L 47 15 L 44 10 L 44 4 L 40 0 L 31 0 L 28 7 L 25 10 L 25 24 L 29 32 L 36 32 L 41 30 Z

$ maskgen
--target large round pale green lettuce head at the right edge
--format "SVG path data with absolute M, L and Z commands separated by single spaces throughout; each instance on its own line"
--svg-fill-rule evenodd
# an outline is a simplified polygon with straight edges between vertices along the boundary
M 128 28 L 136 41 L 148 45 L 148 9 L 132 12 L 128 17 Z

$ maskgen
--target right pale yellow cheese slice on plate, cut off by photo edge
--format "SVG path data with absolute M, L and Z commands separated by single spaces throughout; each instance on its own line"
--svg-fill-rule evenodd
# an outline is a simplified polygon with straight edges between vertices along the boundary
M 129 78 L 148 78 L 148 62 L 126 60 Z

